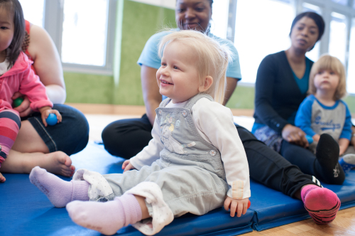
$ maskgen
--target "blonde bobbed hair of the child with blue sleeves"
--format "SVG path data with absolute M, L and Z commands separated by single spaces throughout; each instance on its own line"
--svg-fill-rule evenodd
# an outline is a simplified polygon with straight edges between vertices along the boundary
M 337 90 L 334 92 L 334 100 L 340 100 L 346 95 L 346 75 L 342 62 L 331 55 L 322 55 L 315 64 L 313 64 L 310 72 L 310 86 L 308 93 L 314 95 L 317 92 L 315 87 L 315 75 L 322 70 L 332 70 L 339 75 L 339 84 Z

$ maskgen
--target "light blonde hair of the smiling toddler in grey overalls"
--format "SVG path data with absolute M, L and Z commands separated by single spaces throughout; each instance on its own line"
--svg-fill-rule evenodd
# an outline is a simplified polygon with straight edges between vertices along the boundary
M 175 31 L 163 37 L 159 44 L 158 55 L 163 56 L 163 50 L 169 43 L 180 41 L 189 45 L 197 54 L 197 70 L 199 71 L 200 85 L 207 75 L 213 78 L 211 87 L 205 93 L 214 97 L 220 104 L 224 100 L 226 91 L 226 68 L 231 52 L 227 45 L 223 45 L 213 38 L 198 31 Z

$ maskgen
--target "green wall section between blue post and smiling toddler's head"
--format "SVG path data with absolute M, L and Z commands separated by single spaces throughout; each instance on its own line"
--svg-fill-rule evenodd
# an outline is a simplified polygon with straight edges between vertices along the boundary
M 143 105 L 141 68 L 137 60 L 148 38 L 165 26 L 176 27 L 175 12 L 125 0 L 123 17 L 121 69 L 113 103 Z

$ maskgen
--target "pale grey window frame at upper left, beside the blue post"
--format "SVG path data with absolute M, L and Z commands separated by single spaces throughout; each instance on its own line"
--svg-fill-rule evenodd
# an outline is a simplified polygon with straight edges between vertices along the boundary
M 108 0 L 107 10 L 107 42 L 106 63 L 104 66 L 80 65 L 75 63 L 63 63 L 64 72 L 87 73 L 99 75 L 113 75 L 114 63 L 114 38 L 116 31 L 117 0 Z M 44 0 L 43 26 L 55 43 L 55 47 L 62 58 L 62 22 L 64 16 L 65 0 Z

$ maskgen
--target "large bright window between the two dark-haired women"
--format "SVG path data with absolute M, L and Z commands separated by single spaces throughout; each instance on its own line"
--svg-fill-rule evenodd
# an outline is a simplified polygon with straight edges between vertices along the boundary
M 255 82 L 261 60 L 290 47 L 288 35 L 294 17 L 290 1 L 237 1 L 234 45 L 239 52 L 241 82 Z

